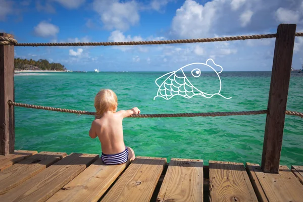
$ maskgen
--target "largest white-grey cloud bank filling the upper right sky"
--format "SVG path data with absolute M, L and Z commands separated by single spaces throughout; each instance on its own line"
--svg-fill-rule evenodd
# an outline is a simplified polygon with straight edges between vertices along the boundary
M 298 0 L 186 0 L 171 22 L 171 38 L 207 38 L 258 34 L 277 28 L 277 21 L 303 25 Z M 206 2 L 206 1 L 202 1 Z

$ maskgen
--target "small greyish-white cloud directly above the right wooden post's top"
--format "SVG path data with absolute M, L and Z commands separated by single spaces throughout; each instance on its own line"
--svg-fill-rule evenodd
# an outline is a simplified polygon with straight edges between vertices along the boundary
M 300 18 L 298 11 L 291 11 L 285 8 L 279 8 L 275 15 L 281 23 L 298 23 Z

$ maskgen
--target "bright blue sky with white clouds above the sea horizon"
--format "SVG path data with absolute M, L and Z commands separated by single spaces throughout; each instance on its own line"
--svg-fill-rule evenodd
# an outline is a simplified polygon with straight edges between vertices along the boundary
M 0 32 L 18 42 L 102 42 L 303 31 L 302 0 L 0 0 Z M 69 70 L 173 71 L 212 58 L 223 71 L 270 71 L 275 39 L 139 46 L 15 47 L 15 57 Z M 292 67 L 303 63 L 296 37 Z

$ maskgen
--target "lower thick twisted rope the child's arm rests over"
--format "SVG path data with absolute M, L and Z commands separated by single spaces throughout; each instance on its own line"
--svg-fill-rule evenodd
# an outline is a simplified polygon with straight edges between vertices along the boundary
M 67 112 L 74 113 L 79 115 L 95 115 L 95 112 L 87 112 L 80 110 L 69 110 L 53 107 L 44 107 L 37 105 L 28 105 L 23 103 L 15 103 L 9 100 L 9 105 L 16 107 L 32 108 L 38 110 L 49 110 L 56 112 Z M 206 112 L 206 113 L 179 113 L 179 114 L 138 114 L 131 115 L 132 118 L 163 118 L 163 117 L 219 117 L 219 116 L 239 116 L 239 115 L 258 115 L 258 114 L 267 114 L 268 110 L 259 110 L 259 111 L 245 111 L 245 112 Z M 286 111 L 287 115 L 299 116 L 303 118 L 303 113 Z

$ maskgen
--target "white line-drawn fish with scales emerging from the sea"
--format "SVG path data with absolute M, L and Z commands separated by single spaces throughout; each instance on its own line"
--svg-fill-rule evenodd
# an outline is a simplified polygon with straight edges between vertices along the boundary
M 194 85 L 200 84 L 199 77 L 201 75 L 201 68 L 193 68 L 191 65 L 203 65 L 203 67 L 211 68 L 218 76 L 218 79 L 220 81 L 220 88 L 218 89 L 218 92 L 214 94 L 210 94 L 207 92 L 201 91 L 199 88 L 195 87 Z M 212 66 L 219 67 L 221 69 L 220 72 L 217 72 Z M 189 77 L 189 79 L 186 77 L 184 72 L 191 72 L 192 77 Z M 163 76 L 156 79 L 155 83 L 159 87 L 157 95 L 154 97 L 154 100 L 156 97 L 162 97 L 164 99 L 171 99 L 176 95 L 183 96 L 185 98 L 191 98 L 195 95 L 201 95 L 205 98 L 211 98 L 214 95 L 220 95 L 221 91 L 221 78 L 219 74 L 223 71 L 222 66 L 217 65 L 212 59 L 208 59 L 206 63 L 191 63 L 189 65 L 185 65 L 181 67 L 180 69 L 169 72 L 167 74 L 164 74 Z M 167 77 L 161 84 L 158 83 L 159 79 L 163 79 Z M 158 82 L 157 82 L 158 81 Z M 231 97 L 225 99 L 230 99 Z

